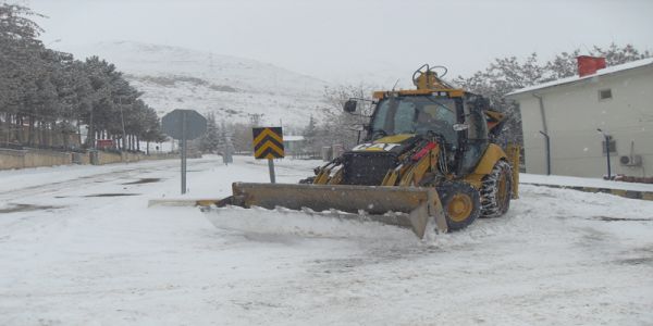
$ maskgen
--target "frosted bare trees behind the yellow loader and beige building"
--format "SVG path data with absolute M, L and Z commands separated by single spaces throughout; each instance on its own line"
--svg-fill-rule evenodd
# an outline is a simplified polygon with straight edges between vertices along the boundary
M 507 114 L 508 121 L 500 141 L 522 143 L 521 114 L 517 105 L 506 99 L 505 95 L 523 87 L 576 75 L 576 58 L 581 54 L 603 57 L 608 66 L 651 57 L 649 51 L 640 51 L 631 45 L 621 47 L 615 43 L 607 48 L 593 47 L 588 51 L 576 49 L 571 52 L 562 52 L 545 62 L 541 62 L 538 54 L 532 53 L 523 60 L 516 57 L 495 59 L 485 70 L 469 77 L 458 76 L 451 82 L 467 91 L 486 97 L 494 110 Z M 322 110 L 325 118 L 319 122 L 311 118 L 304 129 L 304 136 L 311 150 L 317 151 L 322 146 L 334 143 L 350 148 L 358 139 L 360 126 L 369 122 L 361 115 L 344 113 L 342 110 L 344 102 L 349 98 L 371 100 L 372 91 L 380 89 L 364 84 L 326 88 L 323 95 L 326 105 Z M 371 114 L 369 103 L 359 102 L 359 105 L 364 106 L 362 115 Z

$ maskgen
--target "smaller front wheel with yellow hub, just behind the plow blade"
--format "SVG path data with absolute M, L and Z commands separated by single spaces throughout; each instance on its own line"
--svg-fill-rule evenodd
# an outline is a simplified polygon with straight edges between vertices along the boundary
M 442 209 L 449 230 L 458 230 L 472 224 L 481 212 L 477 189 L 466 183 L 445 183 L 438 187 Z

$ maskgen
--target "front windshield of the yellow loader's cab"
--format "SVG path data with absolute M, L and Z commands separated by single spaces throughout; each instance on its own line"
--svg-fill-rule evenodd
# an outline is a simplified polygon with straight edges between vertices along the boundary
M 429 131 L 444 136 L 447 142 L 457 141 L 456 102 L 434 97 L 402 97 L 382 100 L 372 121 L 375 137 Z

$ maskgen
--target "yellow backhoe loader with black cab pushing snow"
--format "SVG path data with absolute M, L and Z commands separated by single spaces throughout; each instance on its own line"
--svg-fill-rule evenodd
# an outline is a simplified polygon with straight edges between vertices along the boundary
M 233 196 L 197 204 L 335 210 L 419 238 L 428 225 L 446 233 L 503 215 L 518 195 L 519 148 L 495 143 L 505 116 L 445 83 L 438 68 L 417 70 L 416 89 L 375 91 L 362 142 L 315 176 L 297 185 L 234 183 Z M 352 99 L 344 110 L 357 105 Z

